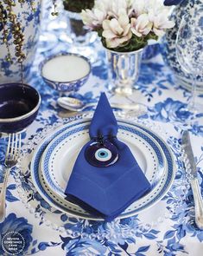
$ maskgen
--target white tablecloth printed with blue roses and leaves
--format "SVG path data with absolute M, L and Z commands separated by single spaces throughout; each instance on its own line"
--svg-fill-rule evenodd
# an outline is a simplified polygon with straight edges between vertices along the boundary
M 61 21 L 60 23 L 62 24 Z M 65 29 L 58 27 L 53 31 L 52 33 L 50 30 L 41 31 L 42 35 L 52 34 L 50 37 L 52 41 L 41 39 L 31 75 L 28 74 L 29 83 L 41 93 L 42 103 L 35 122 L 26 133 L 23 133 L 25 157 L 29 154 L 29 149 L 32 151 L 34 144 L 39 142 L 35 141 L 35 135 L 39 135 L 43 128 L 46 127 L 48 133 L 50 126 L 55 123 L 60 125 L 70 121 L 68 119 L 63 121 L 60 118 L 61 109 L 56 105 L 59 94 L 41 79 L 39 64 L 45 57 L 61 50 L 91 55 L 94 61 L 92 75 L 74 96 L 86 102 L 96 102 L 101 91 L 108 92 L 105 52 L 100 43 L 90 45 L 89 49 L 73 47 L 63 40 L 66 38 Z M 94 56 L 93 53 L 96 52 L 97 56 Z M 111 97 L 111 94 L 108 95 Z M 173 74 L 162 62 L 161 55 L 143 62 L 137 92 L 132 101 L 142 102 L 148 106 L 148 115 L 143 115 L 142 121 L 149 123 L 154 121 L 157 126 L 167 131 L 170 140 L 173 141 L 174 154 L 179 154 L 179 157 L 181 153 L 175 150 L 175 145 L 179 145 L 178 142 L 181 141 L 181 130 L 188 128 L 191 131 L 193 151 L 199 168 L 201 194 L 203 194 L 203 113 L 196 115 L 191 124 L 187 124 L 191 113 L 184 111 L 184 107 L 189 97 L 190 93 L 174 82 Z M 203 94 L 198 100 L 202 101 L 202 97 Z M 42 131 L 42 135 L 43 133 L 46 134 Z M 2 139 L 0 143 L 0 161 L 3 161 L 5 141 Z M 200 231 L 194 223 L 193 195 L 186 181 L 187 175 L 181 160 L 177 161 L 177 166 L 175 182 L 179 185 L 174 185 L 157 207 L 148 210 L 146 214 L 148 217 L 140 213 L 128 219 L 107 223 L 68 218 L 66 214 L 54 211 L 53 214 L 58 216 L 63 224 L 62 227 L 54 225 L 52 220 L 45 220 L 48 211 L 51 212 L 53 209 L 41 199 L 35 188 L 30 188 L 29 170 L 18 174 L 14 168 L 6 194 L 7 217 L 0 224 L 0 240 L 6 233 L 21 233 L 25 246 L 23 253 L 19 255 L 200 256 L 203 251 L 203 231 Z M 19 192 L 21 189 L 26 192 L 24 195 Z M 26 207 L 32 201 L 36 202 L 35 207 Z M 158 206 L 162 202 L 164 211 L 159 212 Z M 153 214 L 152 221 L 149 216 Z M 148 220 L 145 220 L 146 218 Z M 7 255 L 2 245 L 0 245 L 0 255 Z

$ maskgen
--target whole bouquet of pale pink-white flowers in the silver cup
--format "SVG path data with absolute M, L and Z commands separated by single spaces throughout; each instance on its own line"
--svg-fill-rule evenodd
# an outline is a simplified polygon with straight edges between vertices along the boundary
M 97 31 L 105 48 L 120 52 L 142 49 L 167 29 L 169 8 L 163 0 L 96 0 L 92 10 L 82 10 L 83 23 Z

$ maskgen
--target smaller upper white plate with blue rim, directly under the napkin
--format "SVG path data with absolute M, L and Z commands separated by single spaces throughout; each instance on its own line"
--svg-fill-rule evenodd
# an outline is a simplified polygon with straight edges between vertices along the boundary
M 73 170 L 73 165 L 80 149 L 89 141 L 89 125 L 86 122 L 63 132 L 51 141 L 41 157 L 41 173 L 50 190 L 60 198 L 66 198 L 64 191 Z M 137 128 L 136 128 L 137 129 Z M 130 147 L 132 154 L 143 170 L 153 189 L 158 180 L 162 179 L 164 168 L 158 161 L 157 148 L 147 141 L 148 136 L 139 134 L 135 128 L 129 131 L 129 126 L 118 130 L 117 137 Z M 161 166 L 162 165 L 162 166 Z

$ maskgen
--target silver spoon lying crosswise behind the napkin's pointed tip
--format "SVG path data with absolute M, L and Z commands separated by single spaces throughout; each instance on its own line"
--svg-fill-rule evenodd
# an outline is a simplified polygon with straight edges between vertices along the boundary
M 57 100 L 57 103 L 60 105 L 61 108 L 65 108 L 70 111 L 83 111 L 86 108 L 89 107 L 96 107 L 97 103 L 85 103 L 80 101 L 79 99 L 72 98 L 72 97 L 60 97 Z M 126 109 L 126 110 L 131 110 L 131 111 L 139 111 L 143 112 L 143 108 L 146 111 L 146 107 L 144 105 L 140 104 L 122 104 L 122 103 L 111 103 L 111 108 L 118 108 L 118 109 Z

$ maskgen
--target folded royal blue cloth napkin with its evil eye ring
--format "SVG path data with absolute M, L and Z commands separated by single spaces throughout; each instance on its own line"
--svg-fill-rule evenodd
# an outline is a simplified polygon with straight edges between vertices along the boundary
M 100 96 L 89 135 L 65 194 L 67 200 L 111 221 L 146 194 L 150 184 L 130 148 L 117 140 L 117 120 L 105 93 Z

